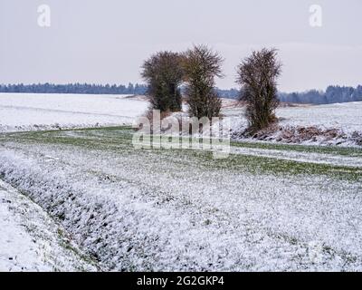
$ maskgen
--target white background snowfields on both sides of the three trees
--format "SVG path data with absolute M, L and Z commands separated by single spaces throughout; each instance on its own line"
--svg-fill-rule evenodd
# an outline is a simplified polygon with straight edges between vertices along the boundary
M 145 99 L 127 95 L 0 93 L 0 132 L 131 124 L 147 109 Z M 223 114 L 232 119 L 234 131 L 246 127 L 243 108 L 233 101 L 224 100 Z M 362 102 L 283 107 L 277 116 L 284 127 L 362 131 Z

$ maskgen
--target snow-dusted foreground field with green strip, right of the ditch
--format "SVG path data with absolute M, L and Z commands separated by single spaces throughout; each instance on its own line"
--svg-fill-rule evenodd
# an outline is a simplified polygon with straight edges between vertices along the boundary
M 295 154 L 300 162 L 253 153 L 218 161 L 135 150 L 129 134 L 5 137 L 0 173 L 105 269 L 362 269 L 361 169 L 349 160 L 316 164 L 316 151 L 312 160 Z

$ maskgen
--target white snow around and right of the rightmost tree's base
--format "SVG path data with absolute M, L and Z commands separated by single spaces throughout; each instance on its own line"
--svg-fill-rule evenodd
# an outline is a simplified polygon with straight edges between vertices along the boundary
M 240 136 L 248 122 L 244 117 L 244 108 L 225 107 L 223 114 L 230 119 L 232 132 Z M 268 141 L 281 141 L 284 131 L 293 131 L 298 128 L 314 127 L 321 131 L 337 130 L 336 137 L 320 134 L 314 139 L 296 140 L 304 145 L 340 145 L 343 147 L 358 146 L 358 137 L 362 136 L 362 102 L 335 103 L 329 105 L 298 105 L 292 107 L 281 107 L 276 110 L 276 115 L 280 118 L 278 127 L 280 130 L 271 132 Z M 288 135 L 288 134 L 287 134 Z M 240 137 L 236 137 L 236 140 Z M 242 140 L 250 140 L 242 138 Z M 287 142 L 290 140 L 287 140 Z

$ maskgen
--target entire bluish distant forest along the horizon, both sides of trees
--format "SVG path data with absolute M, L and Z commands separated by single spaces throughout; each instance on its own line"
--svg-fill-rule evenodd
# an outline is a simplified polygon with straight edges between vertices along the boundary
M 145 84 L 129 85 L 110 85 L 110 84 L 88 84 L 88 83 L 70 83 L 70 84 L 0 84 L 0 92 L 23 92 L 23 93 L 83 93 L 83 94 L 145 94 L 148 87 Z M 240 92 L 236 89 L 221 90 L 217 89 L 220 97 L 228 99 L 238 99 Z M 359 102 L 362 101 L 362 86 L 340 87 L 329 86 L 325 92 L 310 90 L 307 92 L 280 92 L 281 102 L 296 103 L 314 103 L 327 104 L 336 102 Z

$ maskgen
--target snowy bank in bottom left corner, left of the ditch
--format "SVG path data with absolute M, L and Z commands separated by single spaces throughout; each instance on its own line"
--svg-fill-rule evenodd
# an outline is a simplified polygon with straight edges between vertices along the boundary
M 0 179 L 0 272 L 94 271 L 64 229 Z

